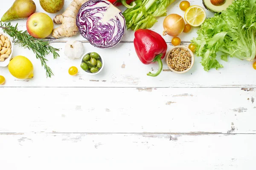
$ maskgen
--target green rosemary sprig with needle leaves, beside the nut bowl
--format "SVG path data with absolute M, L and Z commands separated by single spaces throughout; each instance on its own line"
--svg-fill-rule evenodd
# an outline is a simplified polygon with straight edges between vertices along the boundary
M 52 53 L 53 58 L 56 59 L 59 57 L 59 54 L 56 52 L 59 51 L 59 49 L 50 46 L 49 41 L 45 39 L 37 39 L 29 35 L 27 31 L 19 31 L 17 26 L 18 24 L 16 24 L 14 27 L 11 25 L 11 23 L 3 24 L 1 22 L 0 28 L 3 28 L 3 31 L 6 34 L 9 34 L 14 41 L 17 40 L 15 44 L 19 45 L 20 47 L 28 48 L 35 53 L 35 57 L 40 59 L 42 66 L 46 70 L 46 77 L 53 76 L 54 74 L 52 73 L 51 68 L 49 68 L 46 64 L 48 60 L 45 56 Z

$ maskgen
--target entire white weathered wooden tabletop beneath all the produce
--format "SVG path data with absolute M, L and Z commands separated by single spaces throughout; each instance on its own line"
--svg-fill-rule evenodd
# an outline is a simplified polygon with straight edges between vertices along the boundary
M 44 12 L 34 0 L 38 12 Z M 14 0 L 5 1 L 0 16 Z M 71 0 L 65 0 L 62 13 Z M 184 12 L 177 0 L 168 14 Z M 201 0 L 190 0 L 202 6 Z M 48 13 L 47 13 L 48 14 Z M 49 14 L 54 17 L 55 14 Z M 213 16 L 207 11 L 207 16 Z M 162 33 L 164 17 L 152 30 Z M 15 20 L 26 30 L 26 20 Z M 56 26 L 55 26 L 56 27 Z M 182 45 L 196 28 L 180 35 Z M 28 57 L 34 78 L 6 78 L 0 86 L 0 170 L 255 170 L 256 71 L 236 58 L 205 72 L 196 58 L 187 74 L 169 71 L 148 77 L 157 63 L 143 65 L 126 31 L 116 47 L 99 49 L 81 35 L 51 40 L 61 57 L 47 57 L 55 74 L 46 78 L 35 55 L 15 46 L 13 56 Z M 168 50 L 171 37 L 164 37 Z M 64 55 L 67 40 L 80 40 L 85 51 L 104 54 L 105 68 L 84 74 L 79 59 Z M 163 60 L 164 61 L 164 60 Z M 68 74 L 76 66 L 79 74 Z

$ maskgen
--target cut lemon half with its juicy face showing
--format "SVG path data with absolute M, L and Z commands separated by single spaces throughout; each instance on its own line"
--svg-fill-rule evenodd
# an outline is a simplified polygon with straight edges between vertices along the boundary
M 206 13 L 201 6 L 190 6 L 185 11 L 185 21 L 194 27 L 200 26 L 206 19 Z

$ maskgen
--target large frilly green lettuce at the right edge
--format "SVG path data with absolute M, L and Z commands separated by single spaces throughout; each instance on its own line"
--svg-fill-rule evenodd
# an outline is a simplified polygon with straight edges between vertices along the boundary
M 221 59 L 237 57 L 252 61 L 256 56 L 256 0 L 235 0 L 227 11 L 205 20 L 192 40 L 196 54 L 202 57 L 205 71 L 221 68 Z

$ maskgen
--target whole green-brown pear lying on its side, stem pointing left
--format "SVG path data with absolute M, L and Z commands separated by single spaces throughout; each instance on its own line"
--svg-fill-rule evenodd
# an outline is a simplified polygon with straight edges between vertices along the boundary
M 35 13 L 35 3 L 32 0 L 15 0 L 11 8 L 3 14 L 1 21 L 18 20 L 28 18 Z

